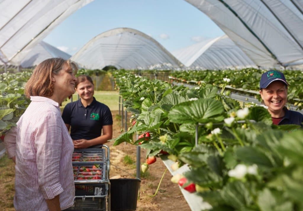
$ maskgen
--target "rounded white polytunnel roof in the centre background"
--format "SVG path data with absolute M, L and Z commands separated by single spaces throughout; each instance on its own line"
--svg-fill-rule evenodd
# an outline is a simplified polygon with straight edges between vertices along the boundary
M 178 69 L 183 66 L 150 36 L 131 28 L 106 31 L 85 44 L 71 60 L 89 69 Z

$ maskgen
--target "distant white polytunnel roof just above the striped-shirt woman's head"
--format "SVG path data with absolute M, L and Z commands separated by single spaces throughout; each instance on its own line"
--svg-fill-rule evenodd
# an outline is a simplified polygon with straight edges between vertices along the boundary
M 48 43 L 41 41 L 34 48 L 29 50 L 29 52 L 25 52 L 26 56 L 21 61 L 21 66 L 23 68 L 33 67 L 38 65 L 40 62 L 44 61 L 48 58 L 60 57 L 65 60 L 69 59 L 71 55 L 65 53 L 64 51 L 55 48 Z

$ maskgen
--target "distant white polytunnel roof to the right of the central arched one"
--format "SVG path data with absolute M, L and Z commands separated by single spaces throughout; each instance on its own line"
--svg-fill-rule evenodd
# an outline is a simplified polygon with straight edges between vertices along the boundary
M 172 54 L 188 69 L 218 70 L 257 67 L 226 35 L 173 51 Z

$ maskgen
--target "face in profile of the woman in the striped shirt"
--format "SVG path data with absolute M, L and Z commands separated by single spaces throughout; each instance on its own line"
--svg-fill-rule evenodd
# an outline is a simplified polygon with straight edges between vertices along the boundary
M 63 64 L 58 74 L 53 75 L 54 93 L 58 93 L 63 99 L 75 93 L 77 78 L 68 64 Z

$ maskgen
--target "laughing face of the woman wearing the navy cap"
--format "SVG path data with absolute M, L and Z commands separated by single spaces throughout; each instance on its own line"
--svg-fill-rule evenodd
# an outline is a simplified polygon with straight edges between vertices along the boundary
M 282 81 L 274 81 L 259 91 L 272 117 L 283 117 L 283 107 L 287 102 L 287 86 Z

